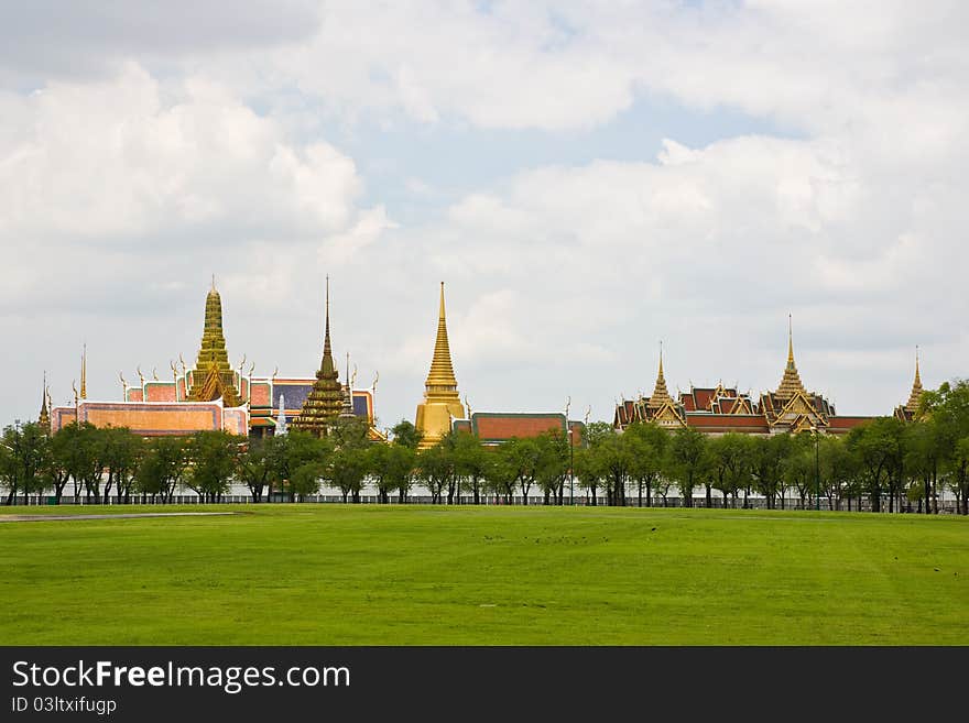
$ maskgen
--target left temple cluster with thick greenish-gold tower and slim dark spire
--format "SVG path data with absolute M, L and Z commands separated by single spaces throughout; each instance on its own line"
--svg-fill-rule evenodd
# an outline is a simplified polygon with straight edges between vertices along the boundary
M 202 342 L 195 366 L 187 368 L 181 355 L 178 361 L 179 364 L 170 362 L 172 375 L 167 380 L 159 379 L 156 370 L 152 370 L 151 379 L 145 379 L 140 366 L 134 384 L 129 384 L 124 375 L 119 374 L 121 399 L 98 402 L 87 398 L 85 350 L 80 391 L 75 387 L 74 405 L 53 407 L 47 404 L 52 430 L 80 420 L 99 427 L 128 427 L 144 437 L 216 429 L 243 437 L 264 437 L 275 434 L 277 425 L 283 428 L 307 428 L 296 424 L 301 416 L 304 418 L 301 424 L 309 419 L 308 428 L 312 429 L 313 420 L 320 418 L 322 409 L 333 413 L 335 408 L 335 416 L 338 416 L 346 414 L 349 408 L 351 414 L 367 419 L 371 439 L 384 438 L 375 427 L 373 398 L 377 380 L 370 388 L 355 390 L 351 380 L 344 385 L 337 379 L 329 343 L 328 288 L 323 362 L 315 377 L 280 377 L 277 371 L 271 376 L 253 376 L 255 365 L 251 363 L 247 369 L 244 355 L 233 369 L 229 363 L 222 328 L 222 303 L 215 280 L 206 296 Z M 326 399 L 323 407 L 322 392 Z M 280 399 L 279 410 L 273 406 L 274 399 Z

